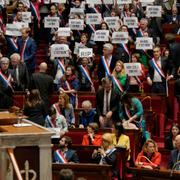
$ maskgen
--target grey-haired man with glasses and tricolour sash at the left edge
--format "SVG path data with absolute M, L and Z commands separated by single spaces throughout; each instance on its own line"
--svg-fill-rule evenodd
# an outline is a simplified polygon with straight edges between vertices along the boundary
M 0 109 L 8 109 L 13 104 L 12 74 L 8 68 L 9 59 L 2 57 L 0 60 Z

